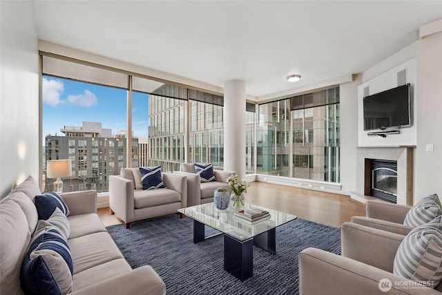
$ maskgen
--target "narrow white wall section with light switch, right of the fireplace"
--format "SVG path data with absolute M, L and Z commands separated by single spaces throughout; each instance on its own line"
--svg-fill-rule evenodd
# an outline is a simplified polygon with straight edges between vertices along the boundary
M 440 22 L 439 22 L 440 23 Z M 442 198 L 442 26 L 417 44 L 417 146 L 414 202 L 430 193 Z M 434 152 L 425 151 L 434 144 Z

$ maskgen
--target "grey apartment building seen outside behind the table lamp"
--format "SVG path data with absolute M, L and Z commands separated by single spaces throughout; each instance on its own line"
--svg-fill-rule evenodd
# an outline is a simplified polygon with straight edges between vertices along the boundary
M 64 126 L 64 135 L 46 136 L 46 160 L 69 159 L 72 176 L 64 179 L 64 191 L 96 189 L 108 191 L 109 175 L 118 175 L 126 166 L 126 133 L 113 135 L 102 123 L 82 122 Z M 133 163 L 138 164 L 138 140 L 133 139 Z M 46 189 L 52 190 L 46 181 Z

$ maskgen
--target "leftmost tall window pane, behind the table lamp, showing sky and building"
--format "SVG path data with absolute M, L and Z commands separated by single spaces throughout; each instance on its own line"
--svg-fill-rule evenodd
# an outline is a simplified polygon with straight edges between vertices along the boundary
M 108 176 L 126 166 L 126 91 L 46 75 L 42 85 L 44 170 L 46 160 L 69 159 L 66 191 L 108 191 Z

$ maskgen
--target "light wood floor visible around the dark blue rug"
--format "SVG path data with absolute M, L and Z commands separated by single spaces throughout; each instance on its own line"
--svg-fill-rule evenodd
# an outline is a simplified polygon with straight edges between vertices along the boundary
M 352 216 L 365 216 L 365 204 L 349 196 L 266 182 L 251 182 L 246 202 L 332 227 L 340 227 Z M 98 215 L 106 227 L 121 223 L 119 218 L 109 214 L 108 208 L 98 209 Z

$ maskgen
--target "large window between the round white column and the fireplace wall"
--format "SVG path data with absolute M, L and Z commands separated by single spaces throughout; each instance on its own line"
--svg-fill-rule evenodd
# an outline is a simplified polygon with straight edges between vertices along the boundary
M 339 88 L 258 110 L 257 173 L 339 182 Z

